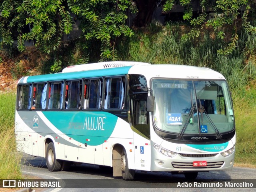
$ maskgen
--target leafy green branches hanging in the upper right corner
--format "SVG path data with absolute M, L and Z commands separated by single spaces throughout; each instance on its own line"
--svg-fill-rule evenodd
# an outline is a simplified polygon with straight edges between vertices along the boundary
M 170 11 L 174 5 L 175 0 L 167 0 L 164 4 L 164 11 Z M 228 30 L 232 29 L 232 37 L 228 41 L 228 44 L 224 48 L 220 48 L 217 52 L 218 54 L 231 54 L 237 45 L 239 38 L 238 27 L 241 26 L 238 23 L 238 18 L 242 18 L 242 26 L 246 32 L 252 35 L 256 34 L 256 26 L 252 26 L 248 20 L 248 14 L 250 12 L 250 0 L 202 0 L 200 1 L 200 14 L 196 18 L 193 18 L 192 0 L 180 0 L 180 4 L 184 6 L 183 19 L 190 22 L 192 29 L 187 34 L 184 34 L 182 38 L 185 40 L 190 38 L 195 38 L 200 35 L 200 29 L 202 29 L 203 24 L 206 22 L 206 26 L 211 26 L 214 29 L 216 37 L 219 39 L 224 39 Z M 245 6 L 244 13 L 241 15 L 240 10 L 242 6 Z M 214 18 L 206 20 L 206 11 L 214 10 Z M 228 27 L 229 26 L 229 27 Z

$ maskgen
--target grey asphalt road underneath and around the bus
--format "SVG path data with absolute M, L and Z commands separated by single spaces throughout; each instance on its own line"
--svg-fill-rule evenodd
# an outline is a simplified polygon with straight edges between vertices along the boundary
M 60 188 L 35 188 L 35 192 L 256 191 L 256 169 L 242 167 L 234 167 L 232 171 L 200 172 L 198 173 L 198 177 L 194 181 L 185 180 L 185 177 L 182 174 L 172 175 L 171 173 L 166 172 L 136 171 L 135 179 L 133 181 L 124 181 L 122 180 L 122 178 L 114 178 L 111 171 L 102 170 L 99 168 L 99 166 L 90 164 L 72 165 L 69 171 L 50 172 L 48 171 L 48 168 L 46 166 L 45 158 L 34 157 L 24 154 L 22 172 L 23 174 L 42 179 L 61 179 Z M 244 182 L 252 183 L 254 187 L 198 187 L 201 183 L 206 183 L 206 185 L 218 185 L 222 183 L 222 186 L 224 186 L 228 183 L 234 182 L 239 184 Z M 191 187 L 181 188 L 180 186 L 182 186 L 182 184 L 190 185 Z

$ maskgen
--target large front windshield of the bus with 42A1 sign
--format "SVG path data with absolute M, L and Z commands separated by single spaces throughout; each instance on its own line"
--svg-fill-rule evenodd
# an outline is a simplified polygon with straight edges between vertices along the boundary
M 197 135 L 234 129 L 234 112 L 224 80 L 153 79 L 152 89 L 154 122 L 159 130 Z

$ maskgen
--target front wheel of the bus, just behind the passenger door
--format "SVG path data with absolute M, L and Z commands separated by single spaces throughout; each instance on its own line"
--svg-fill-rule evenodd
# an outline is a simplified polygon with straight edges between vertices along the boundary
M 124 150 L 121 155 L 121 170 L 122 170 L 122 177 L 123 180 L 133 180 L 135 170 L 128 168 L 128 160 L 127 160 L 127 154 Z

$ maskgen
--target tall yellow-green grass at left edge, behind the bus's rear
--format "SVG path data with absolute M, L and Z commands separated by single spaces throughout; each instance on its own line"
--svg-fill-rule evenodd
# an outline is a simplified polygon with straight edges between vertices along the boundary
M 22 178 L 14 134 L 15 100 L 14 93 L 0 94 L 0 179 Z

